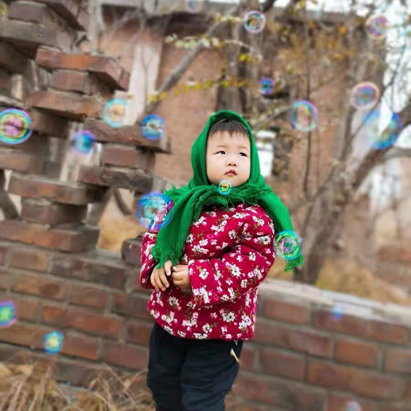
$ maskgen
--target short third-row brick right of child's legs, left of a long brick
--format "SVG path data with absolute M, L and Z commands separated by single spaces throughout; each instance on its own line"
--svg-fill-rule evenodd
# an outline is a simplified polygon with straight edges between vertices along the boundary
M 261 370 L 264 373 L 304 380 L 305 357 L 303 355 L 267 348 L 259 352 L 259 357 Z

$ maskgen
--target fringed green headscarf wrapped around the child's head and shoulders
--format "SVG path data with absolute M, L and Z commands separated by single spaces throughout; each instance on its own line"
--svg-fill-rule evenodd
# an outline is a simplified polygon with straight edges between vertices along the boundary
M 251 146 L 251 171 L 250 178 L 246 183 L 233 187 L 228 195 L 221 195 L 218 192 L 218 186 L 211 184 L 207 178 L 206 149 L 210 126 L 216 121 L 226 118 L 238 120 L 247 127 Z M 173 265 L 179 264 L 191 223 L 198 220 L 202 208 L 208 204 L 226 210 L 237 203 L 260 204 L 273 220 L 275 234 L 284 230 L 293 231 L 287 208 L 272 192 L 271 188 L 264 183 L 264 178 L 260 174 L 253 133 L 250 125 L 239 114 L 229 110 L 221 110 L 209 118 L 201 134 L 194 141 L 191 150 L 191 165 L 194 176 L 188 185 L 181 189 L 172 185 L 171 190 L 164 191 L 164 194 L 174 202 L 174 207 L 167 216 L 167 224 L 160 228 L 156 244 L 151 252 L 158 267 L 162 267 L 167 260 L 171 260 Z M 285 271 L 302 264 L 303 257 L 300 255 L 287 261 Z

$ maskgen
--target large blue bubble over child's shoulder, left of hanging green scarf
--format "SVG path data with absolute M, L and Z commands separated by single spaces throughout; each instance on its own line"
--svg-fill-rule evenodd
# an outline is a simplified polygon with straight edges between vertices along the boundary
M 173 202 L 162 193 L 146 194 L 137 204 L 137 218 L 151 231 L 158 231 L 172 218 Z

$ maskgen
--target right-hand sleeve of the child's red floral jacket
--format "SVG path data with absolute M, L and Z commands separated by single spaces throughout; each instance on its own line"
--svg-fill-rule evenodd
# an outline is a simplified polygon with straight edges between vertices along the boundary
M 236 245 L 220 258 L 189 260 L 196 307 L 233 301 L 256 288 L 274 263 L 274 226 L 267 214 L 250 212 Z

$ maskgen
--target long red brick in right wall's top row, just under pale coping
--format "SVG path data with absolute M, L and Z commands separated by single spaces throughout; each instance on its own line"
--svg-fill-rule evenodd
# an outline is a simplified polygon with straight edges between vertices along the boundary
M 359 337 L 387 343 L 404 344 L 407 342 L 406 327 L 371 321 L 348 314 L 336 318 L 331 311 L 326 310 L 319 310 L 314 313 L 313 325 L 317 328 L 358 335 Z

